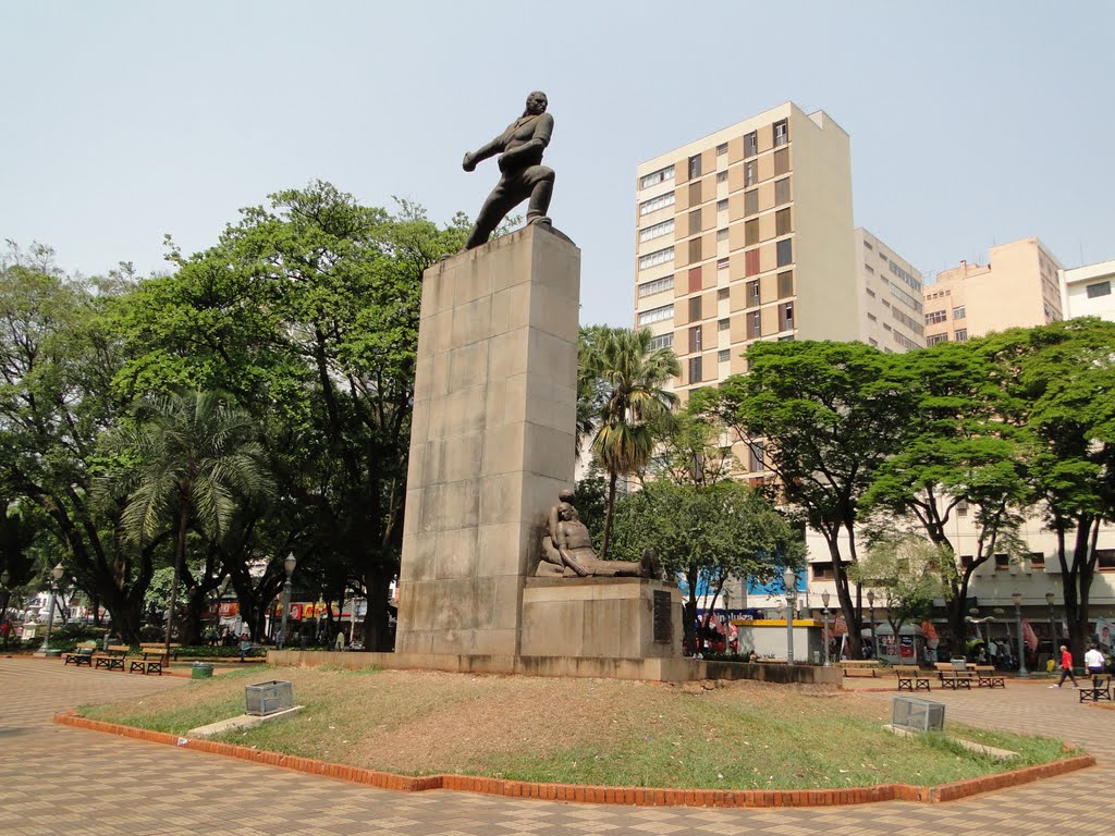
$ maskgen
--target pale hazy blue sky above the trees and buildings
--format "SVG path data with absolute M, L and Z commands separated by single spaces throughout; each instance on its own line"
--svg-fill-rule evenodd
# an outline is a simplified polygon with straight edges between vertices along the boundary
M 922 271 L 1029 235 L 1076 266 L 1115 257 L 1113 31 L 1107 1 L 0 0 L 0 237 L 148 273 L 314 178 L 475 215 L 496 171 L 462 155 L 543 89 L 585 323 L 631 323 L 636 165 L 787 99 Z

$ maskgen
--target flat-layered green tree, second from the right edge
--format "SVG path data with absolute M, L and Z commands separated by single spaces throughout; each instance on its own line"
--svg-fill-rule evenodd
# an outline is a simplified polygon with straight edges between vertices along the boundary
M 971 577 L 997 552 L 1024 551 L 1018 528 L 1028 502 L 1025 449 L 1002 420 L 1004 392 L 978 341 L 942 343 L 894 358 L 905 367 L 915 409 L 901 449 L 879 467 L 861 504 L 861 516 L 888 533 L 913 523 L 952 554 L 938 580 L 949 631 L 966 635 Z M 967 508 L 976 529 L 973 553 L 961 562 L 949 522 Z

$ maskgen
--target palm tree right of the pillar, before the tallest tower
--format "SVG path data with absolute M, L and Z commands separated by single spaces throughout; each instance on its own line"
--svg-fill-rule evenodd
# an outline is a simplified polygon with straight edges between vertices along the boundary
M 608 473 L 608 512 L 601 560 L 607 560 L 615 508 L 615 483 L 642 470 L 658 438 L 656 422 L 668 419 L 677 396 L 662 387 L 681 373 L 673 351 L 652 349 L 649 329 L 598 325 L 582 334 L 579 391 L 599 404 L 592 450 Z

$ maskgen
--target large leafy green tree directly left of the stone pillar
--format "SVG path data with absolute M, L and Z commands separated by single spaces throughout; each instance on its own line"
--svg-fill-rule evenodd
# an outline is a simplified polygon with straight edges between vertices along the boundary
M 275 542 L 249 551 L 298 537 L 312 561 L 342 566 L 334 594 L 367 594 L 371 650 L 390 649 L 421 275 L 467 231 L 463 215 L 438 227 L 413 204 L 389 214 L 312 183 L 244 210 L 205 252 L 172 250 L 177 272 L 119 309 L 139 356 L 117 385 L 223 389 L 256 417 L 279 502 L 244 528 Z M 227 568 L 241 605 L 259 607 L 270 582 Z

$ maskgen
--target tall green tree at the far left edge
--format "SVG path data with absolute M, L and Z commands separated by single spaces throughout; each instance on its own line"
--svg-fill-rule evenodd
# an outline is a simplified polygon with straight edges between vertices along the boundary
M 129 265 L 70 279 L 40 245 L 0 256 L 0 495 L 37 509 L 50 563 L 62 556 L 127 641 L 139 638 L 157 544 L 123 542 L 119 507 L 99 507 L 89 489 L 101 466 L 97 439 L 128 408 L 112 387 L 128 349 L 106 309 L 133 280 Z

